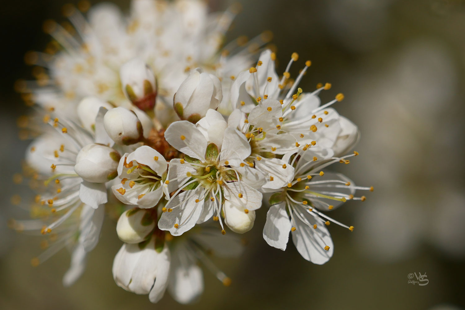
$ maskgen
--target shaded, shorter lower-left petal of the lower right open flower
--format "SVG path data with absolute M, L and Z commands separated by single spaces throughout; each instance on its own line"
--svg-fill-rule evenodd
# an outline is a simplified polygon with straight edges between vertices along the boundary
M 277 249 L 286 250 L 291 231 L 291 221 L 284 203 L 274 204 L 266 213 L 266 223 L 263 228 L 263 238 L 266 243 Z

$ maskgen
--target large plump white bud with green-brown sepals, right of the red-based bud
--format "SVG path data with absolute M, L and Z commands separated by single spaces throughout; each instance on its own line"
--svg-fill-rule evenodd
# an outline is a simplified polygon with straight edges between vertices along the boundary
M 210 73 L 197 68 L 179 86 L 174 94 L 173 107 L 180 119 L 197 123 L 208 109 L 215 110 L 221 100 L 221 82 Z

